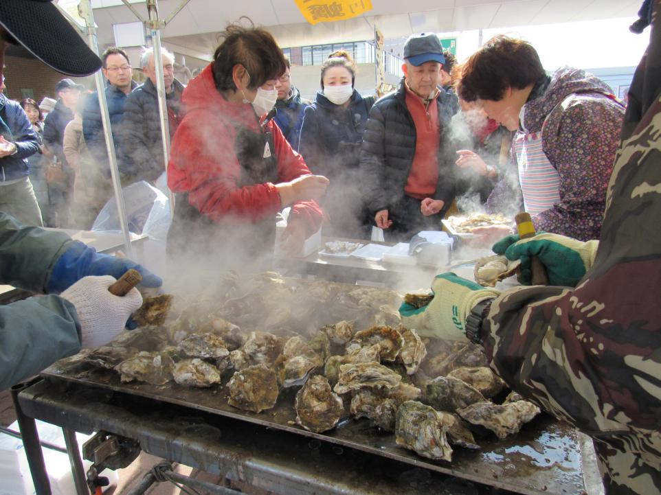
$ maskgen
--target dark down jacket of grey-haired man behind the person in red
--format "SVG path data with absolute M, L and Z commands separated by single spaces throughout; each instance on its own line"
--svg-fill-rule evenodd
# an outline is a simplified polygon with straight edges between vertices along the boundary
M 183 84 L 172 82 L 172 91 L 166 94 L 170 139 L 177 130 L 181 116 L 181 93 Z M 135 88 L 126 98 L 124 119 L 117 133 L 119 166 L 122 184 L 135 181 L 153 183 L 165 170 L 163 144 L 161 141 L 161 118 L 158 112 L 156 87 L 150 79 Z

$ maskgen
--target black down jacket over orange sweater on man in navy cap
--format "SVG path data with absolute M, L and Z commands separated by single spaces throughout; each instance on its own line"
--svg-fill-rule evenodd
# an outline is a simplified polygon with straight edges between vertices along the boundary
M 366 182 L 366 200 L 370 213 L 393 209 L 404 196 L 404 186 L 416 150 L 416 126 L 405 102 L 404 80 L 399 89 L 377 100 L 363 134 L 360 167 L 370 181 Z M 449 95 L 440 89 L 438 95 L 438 185 L 434 199 L 445 201 L 439 216 L 445 215 L 455 196 L 456 178 L 453 155 L 447 139 L 452 106 Z

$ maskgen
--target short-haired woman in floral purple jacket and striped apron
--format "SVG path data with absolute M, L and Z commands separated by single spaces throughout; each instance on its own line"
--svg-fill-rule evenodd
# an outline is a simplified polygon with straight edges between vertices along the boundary
M 547 76 L 532 45 L 496 36 L 464 64 L 459 93 L 517 131 L 519 184 L 536 229 L 597 239 L 625 113 L 608 85 L 571 67 Z

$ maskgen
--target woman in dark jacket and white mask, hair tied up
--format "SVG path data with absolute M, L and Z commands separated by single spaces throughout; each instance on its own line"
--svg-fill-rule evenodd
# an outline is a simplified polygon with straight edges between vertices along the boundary
M 366 239 L 372 220 L 364 205 L 359 170 L 360 147 L 374 97 L 354 89 L 355 68 L 346 52 L 335 52 L 322 65 L 321 91 L 305 109 L 299 152 L 310 170 L 330 179 L 322 201 L 330 224 L 324 234 Z

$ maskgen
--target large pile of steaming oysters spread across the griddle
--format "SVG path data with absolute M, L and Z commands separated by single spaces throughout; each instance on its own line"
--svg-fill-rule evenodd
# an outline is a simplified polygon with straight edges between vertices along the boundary
M 69 360 L 122 382 L 221 389 L 251 413 L 293 400 L 291 423 L 315 433 L 364 417 L 400 446 L 446 461 L 453 446 L 479 448 L 473 433 L 504 438 L 539 413 L 505 397 L 481 347 L 403 327 L 399 303 L 379 288 L 227 275 L 208 293 L 168 300 L 166 314 L 152 311 L 161 324 Z

